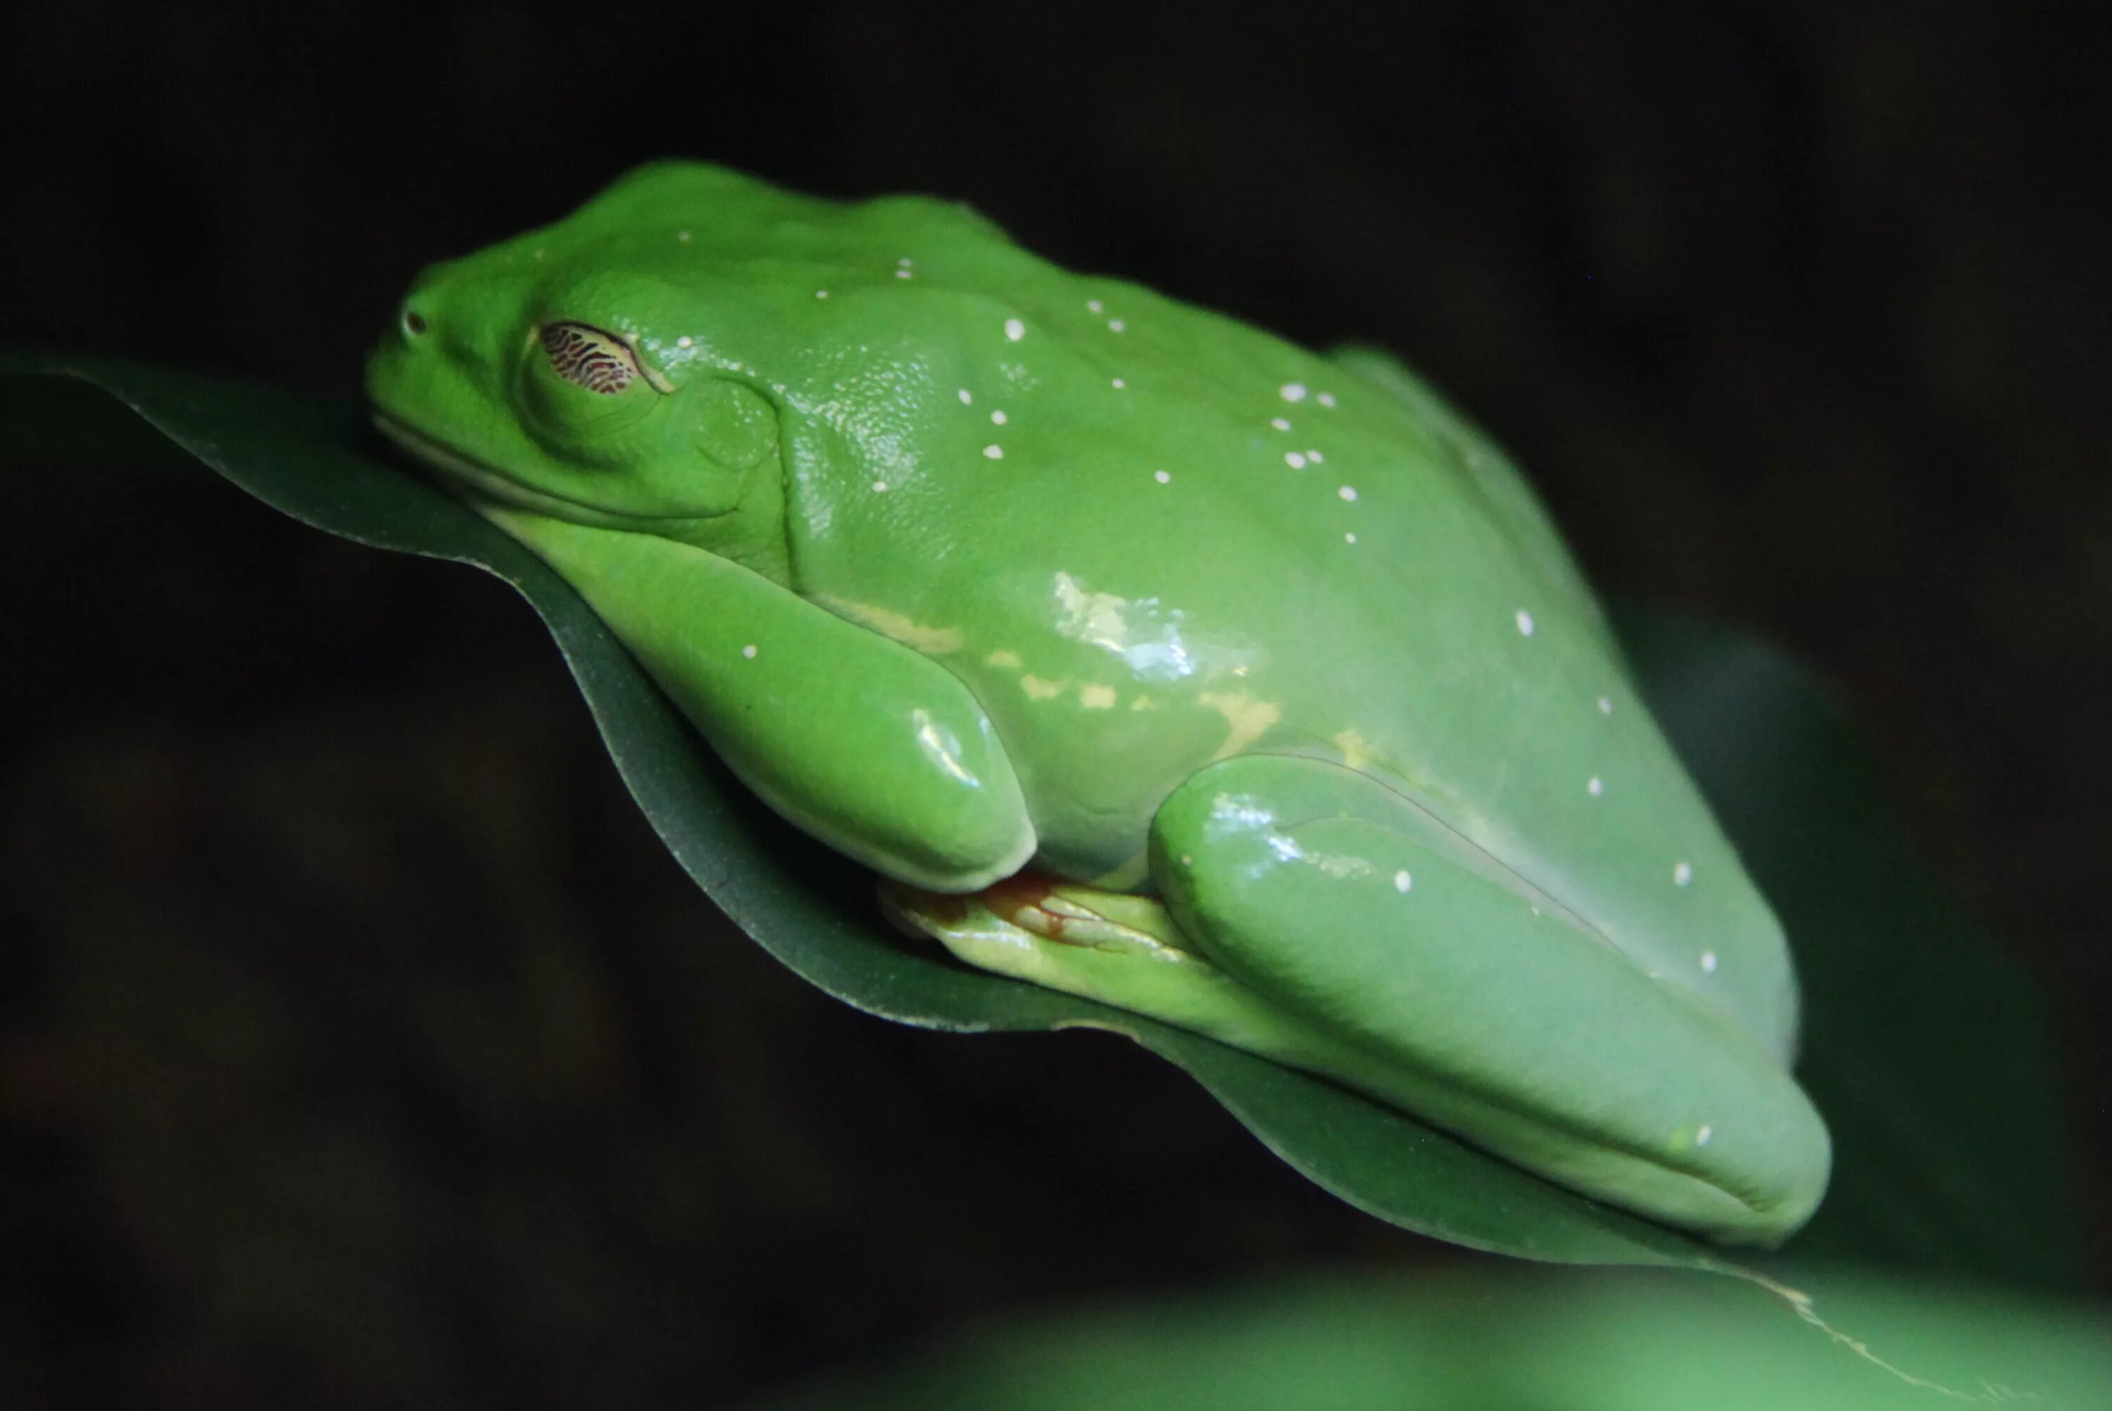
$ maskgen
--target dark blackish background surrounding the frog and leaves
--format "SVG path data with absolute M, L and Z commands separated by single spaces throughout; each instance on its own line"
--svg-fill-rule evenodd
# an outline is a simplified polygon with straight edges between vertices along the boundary
M 693 154 L 1392 344 L 1605 587 L 1840 684 L 2053 995 L 2112 1284 L 2104 21 L 1385 8 L 17 6 L 0 342 L 351 397 L 418 264 Z M 1445 1257 L 1117 1039 L 777 970 L 496 581 L 218 486 L 0 496 L 11 1405 L 712 1405 Z

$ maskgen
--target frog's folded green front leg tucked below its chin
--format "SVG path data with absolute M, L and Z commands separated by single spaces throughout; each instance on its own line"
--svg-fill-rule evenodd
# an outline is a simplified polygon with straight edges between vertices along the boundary
M 934 891 L 1035 851 L 1018 777 L 950 672 L 714 553 L 482 507 L 579 589 L 777 813 Z

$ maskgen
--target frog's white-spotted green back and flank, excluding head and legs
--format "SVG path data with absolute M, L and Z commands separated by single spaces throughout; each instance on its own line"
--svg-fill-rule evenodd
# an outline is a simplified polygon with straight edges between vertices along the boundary
M 693 230 L 686 283 L 746 330 L 712 349 L 699 317 L 699 349 L 786 408 L 796 587 L 976 691 L 1045 864 L 1134 883 L 1195 769 L 1328 758 L 1787 1046 L 1780 932 L 1567 551 L 1407 374 L 1058 270 L 946 203 L 657 171 L 638 239 Z

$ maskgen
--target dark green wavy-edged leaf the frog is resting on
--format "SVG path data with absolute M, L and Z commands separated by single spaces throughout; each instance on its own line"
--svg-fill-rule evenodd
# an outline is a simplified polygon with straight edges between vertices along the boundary
M 1371 1215 L 1442 1240 L 1565 1263 L 1736 1272 L 1681 1234 L 1563 1191 L 1326 1081 L 1134 1014 L 969 972 L 942 959 L 934 946 L 895 938 L 879 921 L 868 900 L 870 885 L 851 864 L 794 832 L 739 788 L 579 596 L 517 543 L 391 460 L 359 406 L 112 359 L 0 353 L 0 389 L 8 387 L 11 374 L 34 382 L 15 380 L 15 391 L 0 395 L 0 425 L 13 427 L 17 416 L 34 410 L 46 448 L 63 444 L 68 427 L 110 446 L 110 437 L 125 435 L 110 422 L 129 420 L 120 412 L 129 408 L 196 460 L 304 524 L 382 549 L 475 564 L 511 583 L 549 625 L 623 782 L 667 849 L 741 929 L 826 993 L 931 1029 L 1094 1027 L 1128 1035 L 1193 1075 L 1312 1181 Z M 108 397 L 82 399 L 80 384 L 97 387 Z M 34 391 L 23 395 L 25 387 Z M 1721 686 L 1721 678 L 1706 672 L 1717 659 L 1713 653 L 1759 651 L 1736 638 L 1685 629 L 1685 636 L 1675 632 L 1673 638 L 1687 655 L 1664 655 L 1652 648 L 1656 632 L 1643 632 L 1639 657 L 1681 667 L 1666 674 L 1673 686 L 1656 693 L 1658 708 L 1673 720 L 1685 718 L 1681 691 L 1694 695 L 1681 682 L 1700 682 L 1711 691 Z M 1664 684 L 1649 676 L 1647 665 L 1645 680 Z M 1795 746 L 1802 739 L 1797 729 L 1816 710 L 1814 693 L 1789 667 L 1759 684 L 1772 693 L 1757 708 L 1759 716 L 1780 729 L 1764 741 L 1745 744 L 1755 750 L 1774 739 Z M 1721 777 L 1704 777 L 1704 786 L 1753 784 L 1738 775 L 1736 758 L 1711 756 L 1711 763 L 1723 765 L 1717 771 Z M 1772 782 L 1774 771 L 1759 779 L 1761 786 Z M 1806 807 L 1808 801 L 1791 805 Z M 1728 815 L 1742 817 L 1738 809 L 1728 809 Z M 1766 824 L 1772 815 L 1761 809 L 1757 817 Z M 1738 834 L 1736 822 L 1732 832 Z M 1755 851 L 1759 860 L 1774 855 L 1768 847 Z M 1795 862 L 1791 853 L 1789 864 Z M 1761 881 L 1778 879 L 1764 874 Z M 1791 893 L 1795 877 L 1783 896 Z M 1821 923 L 1812 934 L 1827 932 Z M 1854 944 L 1856 938 L 1848 940 Z M 1810 959 L 1806 972 L 1816 974 Z M 1848 1043 L 1863 1033 L 1850 1016 L 1833 1022 L 1814 1008 L 1810 1031 L 1814 1065 L 1821 1062 L 1821 1039 L 1840 1039 L 1850 1054 L 1842 1071 L 1859 1071 L 1861 1058 L 1852 1054 L 1867 1056 L 1869 1046 L 1856 1050 Z M 1956 1035 L 1945 1035 L 1945 1041 L 1956 1041 Z M 1890 1071 L 1911 1073 L 1899 1065 Z M 1941 1126 L 1932 1130 L 1941 1147 Z M 2019 1134 L 2019 1141 L 2028 1136 Z M 1928 1155 L 1918 1151 L 1913 1160 L 1926 1162 Z M 2000 1177 L 1973 1164 L 1935 1164 L 1968 1172 L 1962 1177 L 1968 1185 Z M 1901 1174 L 1873 1168 L 1869 1181 L 1882 1191 Z M 1861 1181 L 1854 1172 L 1844 1172 L 1844 1179 L 1850 1189 Z M 1945 1219 L 1956 1215 L 1949 1206 L 1941 1212 Z M 2036 1240 L 2036 1204 L 2021 1206 L 2013 1229 L 1990 1236 L 1992 1248 L 2000 1253 L 2013 1242 Z

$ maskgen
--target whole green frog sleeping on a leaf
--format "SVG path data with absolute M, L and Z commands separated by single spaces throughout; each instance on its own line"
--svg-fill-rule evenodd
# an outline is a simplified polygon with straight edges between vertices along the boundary
M 1531 492 L 1398 363 L 957 205 L 657 165 L 427 270 L 367 387 L 957 953 L 1721 1240 L 1816 1206 L 1780 927 Z M 942 896 L 1029 862 L 1073 885 Z

